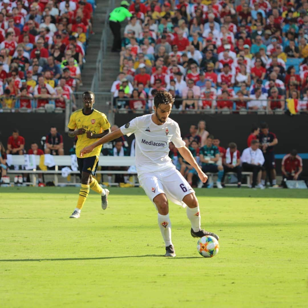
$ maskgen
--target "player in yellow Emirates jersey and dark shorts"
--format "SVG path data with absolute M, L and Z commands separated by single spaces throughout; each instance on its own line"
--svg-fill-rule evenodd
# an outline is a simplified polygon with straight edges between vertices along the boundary
M 95 148 L 91 153 L 83 155 L 81 158 L 79 153 L 82 148 L 93 143 L 94 140 L 99 140 L 110 131 L 110 123 L 104 113 L 93 109 L 95 103 L 95 95 L 91 91 L 86 91 L 82 95 L 83 108 L 76 110 L 71 114 L 70 122 L 68 123 L 68 136 L 75 138 L 77 136 L 76 156 L 78 168 L 81 174 L 81 188 L 77 206 L 70 218 L 79 218 L 80 212 L 90 188 L 101 195 L 102 209 L 106 209 L 108 205 L 107 196 L 109 190 L 102 188 L 97 180 L 93 177 L 95 175 L 99 154 L 102 146 Z M 94 139 L 94 140 L 93 140 Z

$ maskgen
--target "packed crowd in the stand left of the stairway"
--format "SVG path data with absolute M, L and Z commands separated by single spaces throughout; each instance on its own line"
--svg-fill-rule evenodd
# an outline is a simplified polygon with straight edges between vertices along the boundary
M 0 2 L 0 111 L 75 102 L 94 7 L 87 0 Z

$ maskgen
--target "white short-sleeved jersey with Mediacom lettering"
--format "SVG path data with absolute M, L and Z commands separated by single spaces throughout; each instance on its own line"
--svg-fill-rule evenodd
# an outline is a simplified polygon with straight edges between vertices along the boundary
M 168 118 L 162 125 L 152 121 L 152 114 L 137 117 L 120 127 L 124 135 L 135 134 L 136 169 L 138 176 L 146 172 L 175 169 L 169 154 L 169 143 L 184 147 L 179 124 Z

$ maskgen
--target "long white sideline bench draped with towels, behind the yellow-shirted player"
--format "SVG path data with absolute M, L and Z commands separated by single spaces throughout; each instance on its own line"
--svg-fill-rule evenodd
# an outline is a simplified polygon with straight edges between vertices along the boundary
M 40 163 L 40 156 L 33 155 L 35 157 L 35 164 L 36 166 Z M 32 184 L 36 186 L 36 175 L 37 174 L 49 174 L 54 175 L 54 184 L 55 186 L 59 185 L 76 185 L 76 182 L 60 182 L 59 175 L 62 174 L 62 171 L 59 170 L 59 167 L 70 167 L 72 163 L 72 158 L 70 155 L 63 155 L 63 156 L 53 156 L 55 162 L 55 170 L 39 170 L 37 168 L 33 168 L 31 170 L 7 170 L 8 174 L 30 174 L 32 175 L 32 181 L 24 184 Z M 18 165 L 18 166 L 25 166 L 25 155 L 12 155 L 11 165 Z M 99 166 L 101 167 L 130 167 L 135 165 L 135 157 L 131 156 L 101 156 L 99 160 Z M 122 170 L 98 170 L 96 171 L 98 174 L 128 174 L 133 176 L 132 182 L 135 183 L 135 176 L 137 172 L 129 172 L 129 171 L 122 171 Z M 78 175 L 80 174 L 79 171 L 71 171 L 69 174 L 71 175 Z

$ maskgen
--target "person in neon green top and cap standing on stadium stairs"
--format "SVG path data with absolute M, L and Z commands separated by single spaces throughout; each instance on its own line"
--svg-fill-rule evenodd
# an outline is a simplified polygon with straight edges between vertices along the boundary
M 127 9 L 129 3 L 126 0 L 121 1 L 121 6 L 116 7 L 109 15 L 109 26 L 113 34 L 113 44 L 111 51 L 121 51 L 121 24 L 126 17 L 131 17 L 132 13 Z

